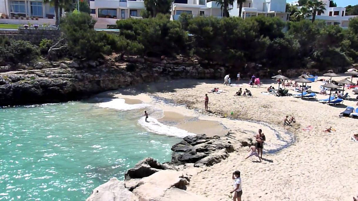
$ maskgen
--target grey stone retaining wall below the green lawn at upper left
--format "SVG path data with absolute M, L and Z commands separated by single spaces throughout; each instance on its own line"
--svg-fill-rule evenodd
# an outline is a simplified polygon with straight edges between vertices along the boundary
M 30 43 L 39 45 L 41 40 L 46 38 L 50 40 L 57 40 L 61 36 L 58 30 L 42 30 L 42 29 L 20 29 L 14 30 L 0 30 L 0 36 L 7 36 L 15 40 L 27 40 Z

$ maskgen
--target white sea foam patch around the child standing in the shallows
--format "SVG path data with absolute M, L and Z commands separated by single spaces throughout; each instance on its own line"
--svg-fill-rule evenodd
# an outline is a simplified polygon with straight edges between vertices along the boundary
M 179 129 L 179 128 L 176 128 L 173 126 L 164 125 L 152 117 L 149 117 L 147 120 L 149 122 L 145 122 L 145 117 L 141 117 L 138 120 L 138 123 L 143 128 L 145 128 L 147 131 L 152 132 L 152 133 L 166 135 L 166 136 L 180 137 L 180 138 L 196 135 L 194 133 L 189 133 L 188 131 L 185 131 L 183 129 Z

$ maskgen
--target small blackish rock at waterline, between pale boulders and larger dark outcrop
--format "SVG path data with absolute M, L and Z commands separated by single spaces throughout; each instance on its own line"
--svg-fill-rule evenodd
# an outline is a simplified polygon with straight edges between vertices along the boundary
M 153 158 L 145 158 L 142 161 L 139 161 L 133 168 L 130 168 L 125 173 L 125 180 L 143 178 L 153 175 L 160 170 L 177 170 L 175 166 L 169 164 L 160 164 L 155 161 Z

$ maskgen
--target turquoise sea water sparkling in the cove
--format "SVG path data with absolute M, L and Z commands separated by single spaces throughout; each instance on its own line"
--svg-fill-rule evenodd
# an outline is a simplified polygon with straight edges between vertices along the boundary
M 141 116 L 82 102 L 0 109 L 0 200 L 86 200 L 145 157 L 170 161 L 180 138 L 146 132 Z

